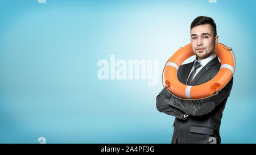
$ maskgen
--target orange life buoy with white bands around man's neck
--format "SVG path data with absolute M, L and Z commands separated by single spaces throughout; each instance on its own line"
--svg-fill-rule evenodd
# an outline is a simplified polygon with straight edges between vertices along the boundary
M 221 61 L 221 68 L 216 76 L 201 85 L 188 86 L 177 79 L 177 70 L 179 66 L 187 58 L 193 56 L 194 53 L 191 44 L 187 44 L 185 47 L 177 50 L 174 55 L 169 58 L 164 70 L 164 79 L 168 90 L 181 98 L 197 99 L 209 97 L 216 92 L 216 90 L 222 89 L 233 76 L 234 60 L 229 49 L 221 43 L 217 43 L 214 53 Z

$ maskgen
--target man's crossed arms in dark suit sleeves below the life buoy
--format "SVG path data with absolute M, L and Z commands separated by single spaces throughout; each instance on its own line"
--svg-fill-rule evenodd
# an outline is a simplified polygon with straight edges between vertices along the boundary
M 224 99 L 229 97 L 233 85 L 233 77 L 229 83 L 218 92 L 218 95 L 200 100 L 181 100 L 172 96 L 167 89 L 163 89 L 156 97 L 156 108 L 167 115 L 178 119 L 187 119 L 188 115 L 203 116 L 209 114 Z

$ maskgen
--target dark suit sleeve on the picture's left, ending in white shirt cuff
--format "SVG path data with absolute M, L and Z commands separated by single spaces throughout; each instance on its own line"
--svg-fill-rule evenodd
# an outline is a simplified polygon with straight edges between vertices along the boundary
M 170 99 L 172 95 L 167 91 L 167 89 L 163 89 L 158 96 L 156 97 L 156 108 L 160 112 L 164 112 L 167 115 L 175 116 L 178 119 L 187 119 L 188 115 L 173 106 L 170 105 Z

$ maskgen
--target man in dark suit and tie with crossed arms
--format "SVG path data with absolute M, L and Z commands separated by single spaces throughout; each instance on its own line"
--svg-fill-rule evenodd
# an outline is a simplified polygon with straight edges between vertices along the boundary
M 199 16 L 191 23 L 191 47 L 196 60 L 177 70 L 177 78 L 185 85 L 201 85 L 220 70 L 214 54 L 218 43 L 216 24 L 212 18 Z M 233 78 L 218 95 L 200 100 L 181 100 L 163 89 L 156 97 L 160 112 L 175 116 L 172 143 L 221 143 L 222 112 L 233 85 Z

